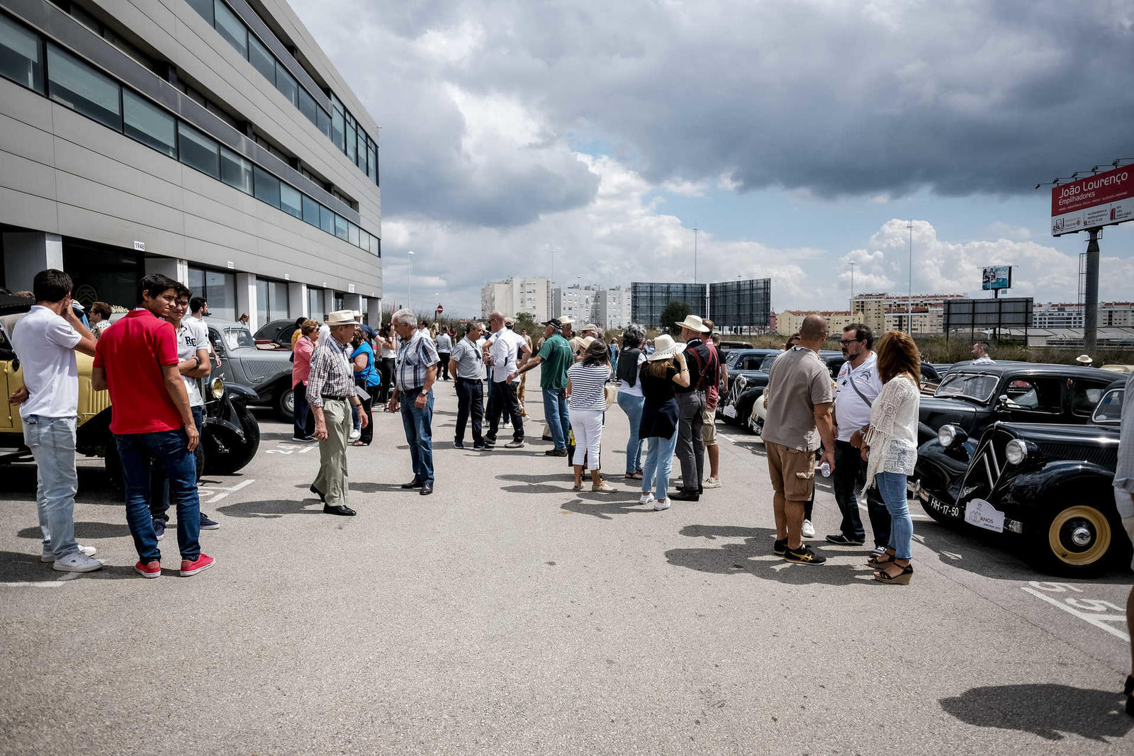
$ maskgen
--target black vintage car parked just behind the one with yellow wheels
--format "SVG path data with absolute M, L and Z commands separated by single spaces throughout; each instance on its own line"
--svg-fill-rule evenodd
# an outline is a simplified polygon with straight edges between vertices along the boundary
M 1109 371 L 1070 365 L 956 365 L 932 397 L 922 398 L 917 441 L 934 439 L 946 424 L 973 438 L 996 422 L 1081 425 L 1114 379 Z

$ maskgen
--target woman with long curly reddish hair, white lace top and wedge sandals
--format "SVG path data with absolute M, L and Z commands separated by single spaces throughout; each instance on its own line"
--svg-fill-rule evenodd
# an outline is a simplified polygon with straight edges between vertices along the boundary
M 878 342 L 878 374 L 885 385 L 870 410 L 862 445 L 868 459 L 866 485 L 878 486 L 890 512 L 890 544 L 871 557 L 880 583 L 908 585 L 914 568 L 909 549 L 914 523 L 906 504 L 906 476 L 917 461 L 917 410 L 921 406 L 921 355 L 909 334 L 890 331 Z

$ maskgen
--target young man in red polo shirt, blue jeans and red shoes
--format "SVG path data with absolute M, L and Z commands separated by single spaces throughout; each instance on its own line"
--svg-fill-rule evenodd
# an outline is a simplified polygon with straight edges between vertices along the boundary
M 158 273 L 138 282 L 139 305 L 99 339 L 91 383 L 110 390 L 110 431 L 118 444 L 126 484 L 126 520 L 134 536 L 142 576 L 161 576 L 161 551 L 150 516 L 150 466 L 155 460 L 169 479 L 177 507 L 181 577 L 212 566 L 201 553 L 201 501 L 193 450 L 200 439 L 189 397 L 178 369 L 177 334 L 162 320 L 177 300 L 177 281 Z

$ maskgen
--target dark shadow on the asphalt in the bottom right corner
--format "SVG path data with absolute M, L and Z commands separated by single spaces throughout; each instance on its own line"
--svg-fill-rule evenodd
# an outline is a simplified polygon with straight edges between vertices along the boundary
M 1115 690 L 1090 690 L 1052 682 L 970 688 L 941 698 L 941 708 L 966 724 L 1031 732 L 1044 740 L 1068 734 L 1099 742 L 1124 738 L 1134 730 L 1134 717 L 1124 711 L 1116 678 Z

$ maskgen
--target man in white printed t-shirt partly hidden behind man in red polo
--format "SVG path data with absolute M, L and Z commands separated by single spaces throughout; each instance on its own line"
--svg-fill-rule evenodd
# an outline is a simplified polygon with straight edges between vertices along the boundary
M 212 365 L 209 362 L 209 326 L 204 321 L 189 317 L 186 313 L 189 308 L 189 289 L 185 286 L 175 287 L 177 299 L 174 300 L 174 309 L 166 318 L 174 325 L 177 332 L 177 365 L 185 382 L 185 393 L 189 397 L 189 410 L 193 413 L 193 422 L 198 431 L 204 428 L 205 399 L 201 393 L 201 379 L 209 377 Z M 169 523 L 169 482 L 166 479 L 166 469 L 161 465 L 154 465 L 150 470 L 152 482 L 150 498 L 150 516 L 153 518 L 153 533 L 158 541 L 166 537 L 166 525 Z M 215 530 L 220 523 L 201 512 L 201 529 Z

